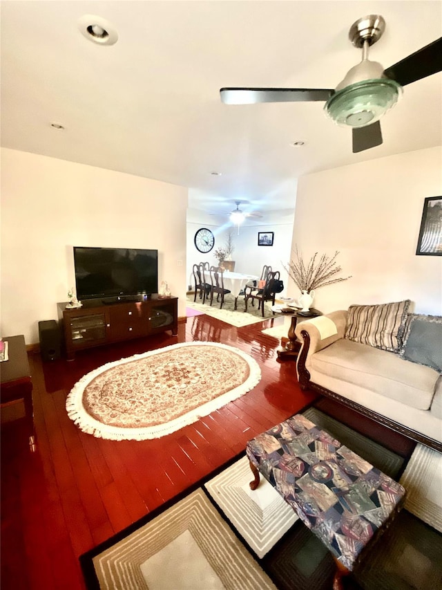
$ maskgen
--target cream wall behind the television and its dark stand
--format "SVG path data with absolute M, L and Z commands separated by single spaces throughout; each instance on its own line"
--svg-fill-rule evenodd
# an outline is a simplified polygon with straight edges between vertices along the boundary
M 57 319 L 73 246 L 157 249 L 185 315 L 186 188 L 12 149 L 1 167 L 1 335 L 32 344 L 39 320 Z

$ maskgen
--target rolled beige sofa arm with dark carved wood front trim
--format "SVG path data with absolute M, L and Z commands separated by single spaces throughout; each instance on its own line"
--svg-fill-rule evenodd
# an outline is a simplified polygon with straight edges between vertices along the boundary
M 301 389 L 307 389 L 308 386 L 310 379 L 308 369 L 311 356 L 333 344 L 336 340 L 344 338 L 347 315 L 346 310 L 332 311 L 327 315 L 320 315 L 296 324 L 295 334 L 298 340 L 302 342 L 298 360 L 296 361 Z

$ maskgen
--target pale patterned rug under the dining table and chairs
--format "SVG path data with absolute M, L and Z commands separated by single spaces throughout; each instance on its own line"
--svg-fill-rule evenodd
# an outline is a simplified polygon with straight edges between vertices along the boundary
M 258 322 L 268 320 L 270 317 L 277 317 L 276 315 L 273 315 L 271 304 L 268 302 L 265 302 L 264 304 L 264 317 L 262 317 L 261 310 L 258 311 L 258 303 L 256 302 L 253 307 L 249 301 L 246 313 L 244 311 L 244 297 L 242 295 L 238 297 L 237 310 L 234 309 L 235 298 L 230 293 L 224 295 L 222 309 L 220 309 L 220 304 L 215 302 L 215 299 L 213 299 L 212 305 L 210 305 L 210 300 L 209 303 L 206 302 L 204 304 L 202 304 L 201 301 L 202 299 L 197 295 L 196 301 L 193 302 L 193 294 L 189 293 L 186 299 L 186 306 L 201 311 L 202 313 L 206 313 L 206 315 L 210 315 L 211 317 L 216 317 L 222 322 L 236 326 L 236 328 L 242 328 L 242 326 L 249 326 L 250 324 L 257 324 Z

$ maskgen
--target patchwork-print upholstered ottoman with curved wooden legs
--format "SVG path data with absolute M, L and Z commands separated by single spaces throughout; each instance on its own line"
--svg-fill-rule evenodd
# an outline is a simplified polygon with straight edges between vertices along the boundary
M 251 489 L 262 473 L 331 551 L 334 588 L 403 504 L 399 483 L 300 414 L 249 441 L 246 454 L 255 475 Z

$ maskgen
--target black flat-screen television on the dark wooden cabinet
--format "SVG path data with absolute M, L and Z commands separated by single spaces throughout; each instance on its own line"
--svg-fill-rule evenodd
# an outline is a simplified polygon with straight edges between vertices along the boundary
M 80 300 L 158 291 L 158 250 L 74 246 L 74 266 Z

